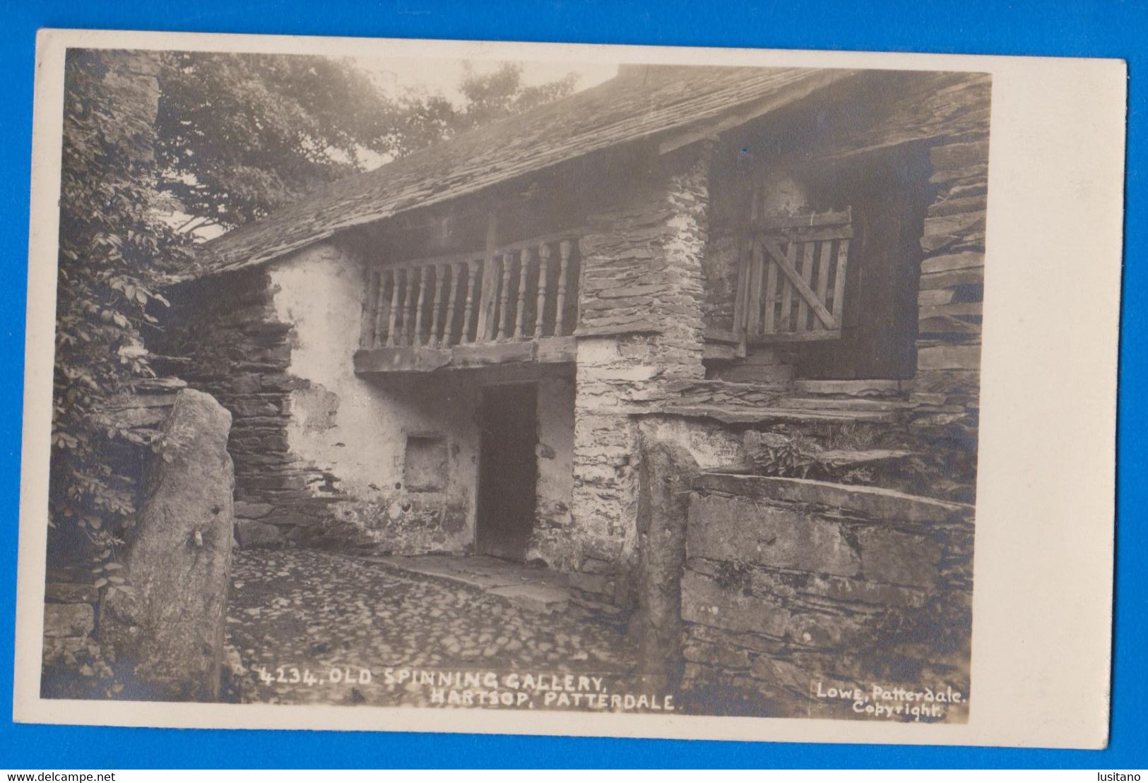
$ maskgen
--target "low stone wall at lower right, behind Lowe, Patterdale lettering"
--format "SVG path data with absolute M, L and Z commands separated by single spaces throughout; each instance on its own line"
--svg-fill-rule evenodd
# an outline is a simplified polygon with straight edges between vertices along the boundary
M 727 474 L 695 490 L 684 698 L 718 714 L 871 718 L 830 689 L 872 704 L 875 684 L 952 688 L 962 701 L 921 719 L 968 719 L 971 506 Z

